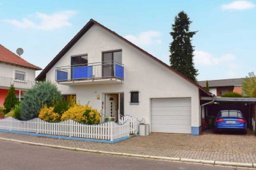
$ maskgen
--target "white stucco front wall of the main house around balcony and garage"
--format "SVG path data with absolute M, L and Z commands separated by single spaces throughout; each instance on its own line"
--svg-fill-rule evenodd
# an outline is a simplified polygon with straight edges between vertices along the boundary
M 99 26 L 92 26 L 88 32 L 47 73 L 47 79 L 55 82 L 55 69 L 70 65 L 70 56 L 88 54 L 88 63 L 101 62 L 102 52 L 122 49 L 124 82 L 120 84 L 97 84 L 65 86 L 57 84 L 63 94 L 76 94 L 77 102 L 101 110 L 102 93 L 124 92 L 124 111 L 135 118 L 145 118 L 150 123 L 150 98 L 191 97 L 191 126 L 199 127 L 198 88 L 168 68 L 149 58 L 120 38 Z M 130 105 L 130 91 L 140 91 L 140 104 Z M 97 100 L 100 95 L 100 100 Z

